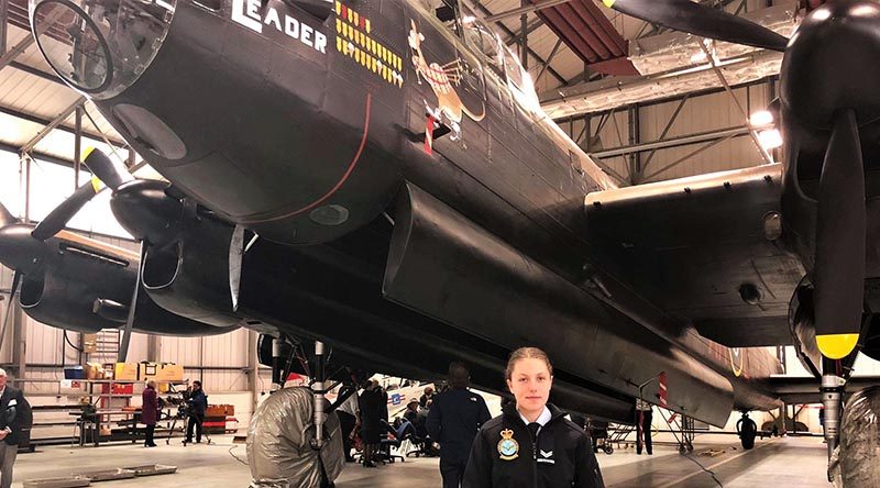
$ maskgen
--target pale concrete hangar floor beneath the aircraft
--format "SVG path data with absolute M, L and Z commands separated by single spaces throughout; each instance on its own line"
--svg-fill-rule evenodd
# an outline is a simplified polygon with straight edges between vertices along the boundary
M 735 436 L 704 434 L 696 437 L 694 453 L 683 456 L 671 445 L 656 445 L 652 456 L 637 456 L 632 448 L 598 454 L 607 487 L 620 488 L 725 488 L 829 487 L 825 481 L 825 444 L 818 437 L 781 437 L 756 442 L 745 452 Z M 98 470 L 117 467 L 163 464 L 178 467 L 173 475 L 92 484 L 96 487 L 130 488 L 174 486 L 176 488 L 245 488 L 250 481 L 244 445 L 230 436 L 215 436 L 215 444 L 166 445 L 146 450 L 140 444 L 110 444 L 97 448 L 69 446 L 43 447 L 38 454 L 21 454 L 15 463 L 13 487 L 25 480 L 65 476 L 73 470 Z M 716 455 L 701 455 L 713 451 Z M 721 452 L 721 454 L 717 454 Z M 239 459 L 235 459 L 235 457 Z M 712 475 L 697 465 L 715 474 Z M 364 469 L 349 464 L 337 479 L 338 488 L 431 488 L 440 487 L 437 458 L 408 458 L 405 463 Z

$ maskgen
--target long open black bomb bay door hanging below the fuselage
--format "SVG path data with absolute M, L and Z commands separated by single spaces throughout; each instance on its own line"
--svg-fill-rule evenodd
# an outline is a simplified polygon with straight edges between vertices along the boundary
M 506 348 L 544 348 L 557 368 L 637 396 L 666 373 L 668 406 L 723 425 L 730 381 L 408 185 L 395 219 L 386 298 Z M 659 403 L 658 381 L 644 390 Z

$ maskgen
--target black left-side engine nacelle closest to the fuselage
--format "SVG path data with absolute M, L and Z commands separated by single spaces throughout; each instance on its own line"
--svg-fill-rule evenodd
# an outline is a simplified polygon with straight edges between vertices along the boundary
M 188 219 L 176 241 L 147 248 L 144 288 L 160 307 L 178 315 L 216 326 L 238 324 L 242 237 L 241 229 L 226 223 Z

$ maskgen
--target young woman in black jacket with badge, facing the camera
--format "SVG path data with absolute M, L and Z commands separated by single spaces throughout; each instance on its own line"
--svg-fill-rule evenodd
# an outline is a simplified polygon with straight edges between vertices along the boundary
M 506 376 L 516 403 L 480 429 L 462 488 L 603 488 L 590 437 L 547 403 L 553 382 L 547 354 L 514 351 Z

